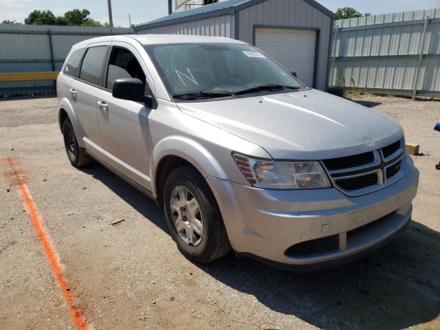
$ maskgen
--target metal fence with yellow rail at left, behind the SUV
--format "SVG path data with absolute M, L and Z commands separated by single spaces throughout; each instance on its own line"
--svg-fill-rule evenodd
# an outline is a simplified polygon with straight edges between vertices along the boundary
M 95 36 L 131 33 L 131 28 L 0 25 L 0 96 L 54 94 L 53 80 L 36 79 L 43 73 L 56 76 L 72 45 Z

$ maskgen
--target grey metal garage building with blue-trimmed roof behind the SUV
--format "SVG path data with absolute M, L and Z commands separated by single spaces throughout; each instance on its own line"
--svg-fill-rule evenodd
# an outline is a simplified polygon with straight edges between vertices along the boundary
M 259 47 L 325 90 L 334 14 L 314 0 L 229 0 L 137 25 L 137 34 L 226 36 Z

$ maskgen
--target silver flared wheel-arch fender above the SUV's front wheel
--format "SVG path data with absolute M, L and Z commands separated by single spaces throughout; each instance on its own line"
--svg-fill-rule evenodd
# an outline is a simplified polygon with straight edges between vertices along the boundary
M 210 176 L 217 177 L 218 179 L 228 178 L 217 159 L 207 148 L 188 137 L 171 135 L 160 140 L 153 149 L 150 162 L 153 195 L 156 195 L 157 192 L 155 181 L 158 165 L 160 161 L 168 155 L 174 155 L 185 159 L 187 162 L 195 166 L 203 177 Z

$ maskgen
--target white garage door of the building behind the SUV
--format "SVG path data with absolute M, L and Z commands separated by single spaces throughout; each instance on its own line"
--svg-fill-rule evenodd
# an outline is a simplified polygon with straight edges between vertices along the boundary
M 255 46 L 272 56 L 308 87 L 314 83 L 316 31 L 256 28 Z

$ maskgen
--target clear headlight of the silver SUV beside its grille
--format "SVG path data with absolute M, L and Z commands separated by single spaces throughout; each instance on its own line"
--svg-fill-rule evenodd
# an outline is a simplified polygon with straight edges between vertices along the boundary
M 233 153 L 234 161 L 250 184 L 270 189 L 329 188 L 318 162 L 275 162 Z

